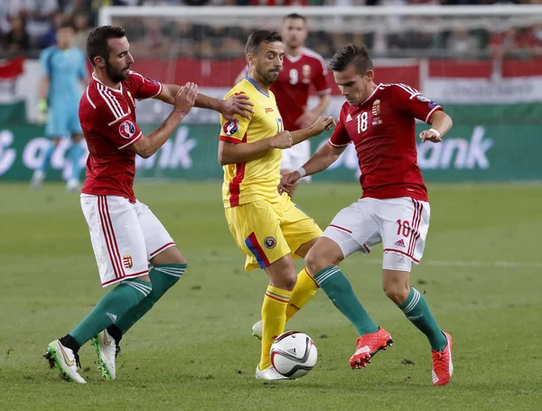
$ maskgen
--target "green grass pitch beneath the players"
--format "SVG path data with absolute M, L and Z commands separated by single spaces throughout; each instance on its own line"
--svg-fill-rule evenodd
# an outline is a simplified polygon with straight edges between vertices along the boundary
M 431 384 L 431 355 L 381 290 L 381 247 L 342 264 L 361 301 L 394 337 L 367 369 L 348 359 L 356 333 L 320 292 L 287 329 L 313 337 L 319 360 L 296 381 L 254 378 L 250 328 L 266 288 L 246 273 L 224 218 L 220 183 L 136 184 L 189 260 L 182 280 L 122 341 L 117 381 L 89 346 L 79 386 L 42 353 L 104 293 L 78 195 L 60 184 L 0 185 L 0 406 L 3 410 L 535 410 L 542 407 L 542 186 L 430 185 L 431 228 L 412 284 L 454 339 L 455 371 Z M 296 202 L 325 227 L 357 184 L 310 184 Z M 302 262 L 297 262 L 299 268 Z

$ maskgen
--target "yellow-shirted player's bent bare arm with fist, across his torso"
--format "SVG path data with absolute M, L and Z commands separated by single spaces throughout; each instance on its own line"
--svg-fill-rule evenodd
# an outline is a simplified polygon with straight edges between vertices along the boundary
M 285 149 L 292 146 L 292 135 L 289 131 L 281 131 L 277 135 L 264 138 L 254 143 L 229 143 L 219 141 L 220 165 L 245 163 L 266 155 L 274 148 Z

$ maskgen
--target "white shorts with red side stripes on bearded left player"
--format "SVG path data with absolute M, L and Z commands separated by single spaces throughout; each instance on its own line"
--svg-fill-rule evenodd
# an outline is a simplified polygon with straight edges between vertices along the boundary
M 144 203 L 115 195 L 81 194 L 102 286 L 148 275 L 149 261 L 175 245 Z

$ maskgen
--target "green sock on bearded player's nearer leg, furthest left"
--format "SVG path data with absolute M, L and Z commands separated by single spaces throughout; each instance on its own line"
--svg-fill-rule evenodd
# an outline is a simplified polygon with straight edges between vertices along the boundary
M 71 332 L 79 346 L 96 337 L 98 332 L 117 322 L 130 311 L 132 307 L 144 300 L 151 293 L 153 285 L 142 280 L 125 280 L 107 294 L 96 304 L 96 307 Z

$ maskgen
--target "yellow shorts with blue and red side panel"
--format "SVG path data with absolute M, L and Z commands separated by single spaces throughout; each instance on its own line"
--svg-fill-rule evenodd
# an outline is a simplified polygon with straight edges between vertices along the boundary
M 229 231 L 247 256 L 245 269 L 266 268 L 305 243 L 319 238 L 316 221 L 297 207 L 284 193 L 281 201 L 255 201 L 226 210 Z

